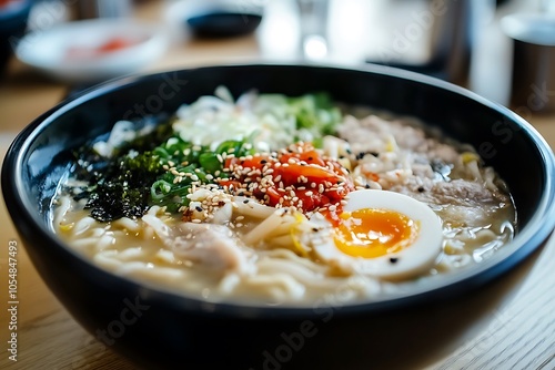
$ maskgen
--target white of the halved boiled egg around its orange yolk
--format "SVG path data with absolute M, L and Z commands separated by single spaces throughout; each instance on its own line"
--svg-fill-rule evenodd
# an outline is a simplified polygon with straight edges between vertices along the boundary
M 418 223 L 420 229 L 414 243 L 400 251 L 375 258 L 352 257 L 336 247 L 333 226 L 321 214 L 315 214 L 311 222 L 323 228 L 324 233 L 329 233 L 329 237 L 320 237 L 312 245 L 320 259 L 344 271 L 395 280 L 417 276 L 432 267 L 442 250 L 443 228 L 440 217 L 426 204 L 387 191 L 350 193 L 344 210 L 361 208 L 390 209 Z

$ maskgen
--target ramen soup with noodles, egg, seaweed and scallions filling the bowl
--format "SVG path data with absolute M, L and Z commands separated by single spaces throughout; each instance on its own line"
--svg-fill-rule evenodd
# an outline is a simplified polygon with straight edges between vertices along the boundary
M 223 88 L 77 150 L 52 208 L 56 233 L 115 275 L 290 306 L 411 289 L 516 226 L 494 168 L 415 119 Z

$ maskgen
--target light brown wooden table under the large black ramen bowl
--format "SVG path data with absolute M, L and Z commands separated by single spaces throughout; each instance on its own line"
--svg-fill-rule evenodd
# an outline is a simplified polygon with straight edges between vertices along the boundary
M 140 18 L 160 18 L 159 3 L 142 3 Z M 260 38 L 183 41 L 148 71 L 261 58 Z M 16 134 L 68 92 L 12 61 L 0 82 L 0 151 Z M 555 115 L 529 114 L 555 146 Z M 0 368 L 132 369 L 85 332 L 46 287 L 0 202 Z M 8 359 L 8 246 L 18 250 L 18 361 Z M 369 363 L 383 369 L 554 369 L 555 237 L 496 281 L 453 304 L 403 320 L 402 336 L 384 335 Z M 346 361 L 345 367 L 347 367 Z M 366 369 L 369 364 L 352 364 Z

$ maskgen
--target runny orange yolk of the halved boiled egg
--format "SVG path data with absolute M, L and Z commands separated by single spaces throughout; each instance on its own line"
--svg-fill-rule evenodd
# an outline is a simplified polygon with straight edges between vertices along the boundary
M 381 208 L 361 208 L 341 214 L 335 245 L 352 257 L 375 258 L 408 247 L 418 235 L 418 224 L 406 215 Z

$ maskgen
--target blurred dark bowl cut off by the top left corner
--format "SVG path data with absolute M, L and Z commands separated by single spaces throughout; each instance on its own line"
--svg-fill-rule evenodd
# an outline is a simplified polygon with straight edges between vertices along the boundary
M 27 29 L 32 0 L 19 0 L 0 7 L 0 73 Z

